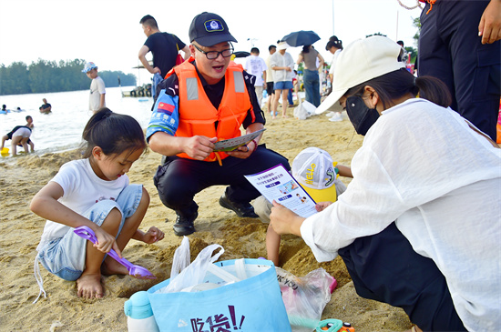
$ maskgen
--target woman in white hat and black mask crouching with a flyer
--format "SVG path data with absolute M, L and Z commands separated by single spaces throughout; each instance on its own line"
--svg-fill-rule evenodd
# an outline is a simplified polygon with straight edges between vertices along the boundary
M 274 203 L 271 226 L 302 236 L 319 261 L 342 256 L 359 295 L 403 307 L 423 330 L 497 330 L 501 150 L 399 53 L 383 36 L 344 48 L 319 108 L 339 100 L 365 135 L 353 181 L 306 219 Z

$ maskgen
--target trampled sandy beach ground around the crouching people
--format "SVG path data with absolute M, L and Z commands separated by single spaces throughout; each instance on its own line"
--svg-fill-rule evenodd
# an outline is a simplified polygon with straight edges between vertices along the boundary
M 303 148 L 318 146 L 328 151 L 334 161 L 350 166 L 363 137 L 356 135 L 345 113 L 343 118 L 343 122 L 330 122 L 326 116 L 320 115 L 298 120 L 292 117 L 290 108 L 288 118 L 267 120 L 267 130 L 261 142 L 288 157 L 290 162 Z M 103 277 L 106 297 L 88 300 L 77 297 L 75 282 L 50 275 L 40 266 L 47 297 L 32 304 L 39 291 L 33 263 L 45 220 L 34 215 L 28 206 L 36 192 L 56 175 L 59 167 L 74 158 L 77 158 L 75 152 L 65 152 L 19 156 L 14 161 L 0 159 L 0 285 L 4 289 L 0 296 L 1 331 L 127 331 L 124 302 L 135 292 L 147 290 L 169 278 L 172 257 L 181 237 L 172 231 L 176 217 L 174 211 L 167 209 L 158 199 L 153 176 L 160 156 L 150 151 L 134 164 L 128 176 L 131 183 L 143 184 L 151 196 L 140 228 L 146 230 L 149 226 L 158 226 L 166 236 L 154 245 L 131 240 L 123 255 L 131 262 L 147 267 L 158 279 Z M 349 184 L 348 179 L 343 179 L 343 182 Z M 195 197 L 199 217 L 195 222 L 197 232 L 189 236 L 192 260 L 201 248 L 212 243 L 225 248 L 222 260 L 266 257 L 268 225 L 259 219 L 240 218 L 222 208 L 218 200 L 223 190 L 223 186 L 214 186 Z M 323 267 L 337 279 L 338 288 L 323 311 L 323 319 L 350 322 L 357 332 L 410 328 L 411 323 L 403 310 L 356 295 L 340 257 L 329 263 L 318 263 L 302 238 L 283 236 L 280 259 L 281 267 L 297 277 Z

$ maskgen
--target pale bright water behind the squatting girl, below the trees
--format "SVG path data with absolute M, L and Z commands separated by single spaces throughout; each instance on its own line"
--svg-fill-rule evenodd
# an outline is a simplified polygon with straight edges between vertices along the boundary
M 133 116 L 141 127 L 148 126 L 151 116 L 151 97 L 122 97 L 121 90 L 131 90 L 132 86 L 111 87 L 106 89 L 106 105 L 113 112 Z M 42 155 L 47 152 L 62 152 L 77 148 L 82 142 L 82 132 L 87 121 L 92 116 L 88 110 L 88 90 L 57 92 L 47 94 L 28 94 L 0 96 L 0 106 L 7 106 L 11 112 L 0 114 L 0 136 L 10 132 L 15 126 L 26 125 L 26 116 L 33 117 L 35 128 L 31 140 L 35 144 L 35 153 Z M 42 99 L 52 105 L 52 113 L 41 114 L 38 107 Z M 13 112 L 17 107 L 21 112 Z M 5 147 L 11 148 L 10 140 Z M 17 147 L 17 152 L 24 151 Z M 5 156 L 8 158 L 9 156 Z

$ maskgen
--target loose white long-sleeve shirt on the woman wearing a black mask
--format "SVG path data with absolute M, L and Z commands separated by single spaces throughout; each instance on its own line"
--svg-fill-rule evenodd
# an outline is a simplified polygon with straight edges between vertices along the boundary
M 353 181 L 301 226 L 319 261 L 395 221 L 444 274 L 468 330 L 501 327 L 501 149 L 450 108 L 410 99 L 383 112 L 353 156 Z M 377 273 L 377 271 L 374 271 Z

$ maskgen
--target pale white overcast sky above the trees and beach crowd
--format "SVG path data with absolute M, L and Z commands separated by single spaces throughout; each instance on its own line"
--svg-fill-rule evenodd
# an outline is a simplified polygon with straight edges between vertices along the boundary
M 416 1 L 401 0 L 408 6 Z M 78 58 L 95 62 L 100 70 L 148 77 L 144 69 L 132 68 L 139 64 L 138 50 L 146 40 L 141 17 L 154 16 L 160 31 L 188 44 L 191 20 L 204 11 L 223 17 L 239 41 L 236 51 L 255 45 L 265 58 L 268 46 L 284 35 L 312 30 L 322 38 L 314 46 L 327 61 L 332 59 L 325 51 L 331 35 L 346 46 L 380 32 L 416 47 L 413 18 L 421 14 L 397 0 L 0 0 L 0 64 Z M 289 52 L 296 59 L 300 50 Z

